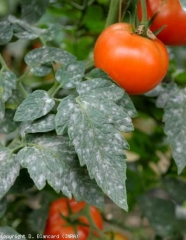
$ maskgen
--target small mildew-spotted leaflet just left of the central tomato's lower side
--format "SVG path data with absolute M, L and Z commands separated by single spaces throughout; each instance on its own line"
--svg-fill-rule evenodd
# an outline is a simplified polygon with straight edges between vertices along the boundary
M 64 89 L 75 88 L 82 81 L 84 72 L 84 62 L 71 63 L 68 66 L 62 66 L 56 72 L 56 80 Z

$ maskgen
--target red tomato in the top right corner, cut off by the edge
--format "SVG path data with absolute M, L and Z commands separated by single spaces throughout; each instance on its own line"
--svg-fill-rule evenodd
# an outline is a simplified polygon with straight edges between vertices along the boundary
M 151 18 L 156 12 L 150 29 L 156 31 L 163 25 L 166 27 L 157 37 L 166 45 L 186 45 L 186 12 L 179 0 L 146 0 L 148 17 Z M 138 1 L 138 16 L 141 19 L 142 10 Z

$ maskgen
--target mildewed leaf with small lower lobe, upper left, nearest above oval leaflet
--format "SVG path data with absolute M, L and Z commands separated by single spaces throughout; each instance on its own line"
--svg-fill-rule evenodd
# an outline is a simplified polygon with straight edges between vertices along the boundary
M 36 76 L 49 74 L 52 71 L 52 62 L 68 65 L 75 60 L 72 54 L 55 47 L 34 49 L 25 56 L 25 62 L 32 67 L 31 71 Z M 50 65 L 47 65 L 49 63 Z

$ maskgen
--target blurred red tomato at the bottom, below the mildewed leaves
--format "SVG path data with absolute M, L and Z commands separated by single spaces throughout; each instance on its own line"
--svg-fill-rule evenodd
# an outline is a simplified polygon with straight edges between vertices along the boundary
M 59 198 L 56 201 L 52 202 L 49 210 L 49 216 L 46 224 L 46 228 L 44 231 L 44 235 L 58 235 L 60 238 L 56 239 L 75 239 L 74 235 L 69 234 L 77 234 L 78 240 L 86 240 L 89 235 L 89 226 L 82 226 L 80 223 L 89 225 L 88 219 L 86 216 L 81 216 L 77 220 L 79 222 L 69 226 L 67 221 L 62 217 L 69 217 L 69 209 L 71 209 L 72 214 L 80 212 L 85 207 L 85 202 L 77 202 L 75 199 L 69 200 L 68 198 Z M 90 213 L 94 223 L 97 227 L 102 230 L 103 229 L 103 220 L 100 212 L 93 206 L 90 206 Z M 77 232 L 76 232 L 77 231 Z M 96 234 L 96 233 L 95 233 Z M 76 235 L 76 236 L 77 236 Z

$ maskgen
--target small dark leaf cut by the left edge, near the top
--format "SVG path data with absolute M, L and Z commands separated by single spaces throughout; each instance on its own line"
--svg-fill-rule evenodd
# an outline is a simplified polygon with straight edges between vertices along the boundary
M 4 45 L 12 39 L 13 28 L 8 21 L 0 22 L 0 45 Z

